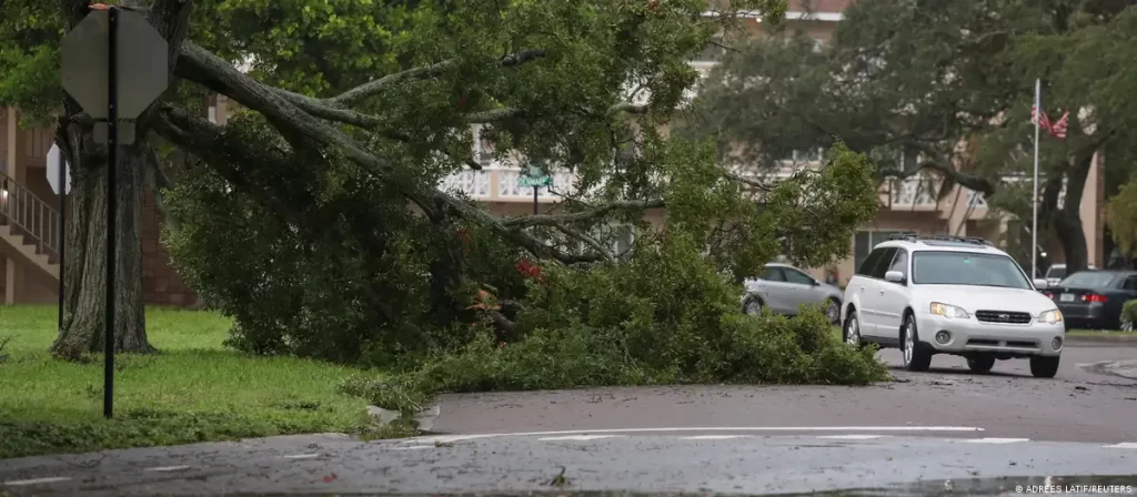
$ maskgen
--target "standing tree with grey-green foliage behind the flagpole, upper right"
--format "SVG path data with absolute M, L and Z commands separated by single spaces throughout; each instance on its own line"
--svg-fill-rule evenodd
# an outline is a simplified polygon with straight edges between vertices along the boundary
M 739 44 L 691 128 L 721 130 L 723 144 L 742 144 L 724 157 L 760 167 L 844 140 L 880 161 L 880 179 L 933 172 L 941 194 L 958 184 L 1029 222 L 1029 183 L 1007 178 L 1032 169 L 1040 77 L 1052 119 L 1071 110 L 1067 140 L 1043 136 L 1040 228 L 1053 229 L 1076 271 L 1088 260 L 1078 212 L 1094 153 L 1107 151 L 1112 174 L 1126 175 L 1137 143 L 1126 102 L 1134 86 L 1122 81 L 1130 3 L 857 1 L 825 48 L 789 31 Z

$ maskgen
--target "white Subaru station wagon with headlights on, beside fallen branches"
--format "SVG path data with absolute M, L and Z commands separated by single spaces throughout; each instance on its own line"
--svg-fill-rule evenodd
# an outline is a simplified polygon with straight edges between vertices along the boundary
M 845 289 L 843 335 L 899 347 L 904 367 L 926 371 L 936 354 L 963 356 L 974 372 L 1029 359 L 1031 374 L 1059 370 L 1065 323 L 1005 252 L 981 238 L 894 235 L 873 247 Z

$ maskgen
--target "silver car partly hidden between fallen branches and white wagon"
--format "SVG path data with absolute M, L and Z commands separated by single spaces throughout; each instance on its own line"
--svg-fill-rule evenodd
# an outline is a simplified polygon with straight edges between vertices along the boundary
M 746 280 L 742 312 L 757 315 L 766 308 L 779 314 L 796 315 L 800 305 L 818 305 L 831 322 L 837 323 L 843 296 L 840 288 L 818 281 L 800 269 L 770 263 L 762 277 Z

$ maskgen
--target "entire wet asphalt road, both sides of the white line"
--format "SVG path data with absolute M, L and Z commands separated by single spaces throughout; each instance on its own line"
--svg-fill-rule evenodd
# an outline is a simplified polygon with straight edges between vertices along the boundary
M 895 351 L 881 359 L 899 364 Z M 441 435 L 372 443 L 277 437 L 7 460 L 0 496 L 797 492 L 1137 475 L 1137 380 L 1124 377 L 1137 372 L 1132 361 L 1137 348 L 1070 347 L 1055 379 L 1031 378 L 1024 361 L 977 376 L 961 359 L 936 357 L 931 372 L 894 368 L 895 381 L 860 388 L 449 395 L 428 420 Z M 559 467 L 568 485 L 549 486 Z

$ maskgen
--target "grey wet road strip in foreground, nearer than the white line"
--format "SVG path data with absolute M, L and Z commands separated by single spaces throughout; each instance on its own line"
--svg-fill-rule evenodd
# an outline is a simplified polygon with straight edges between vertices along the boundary
M 14 496 L 621 489 L 761 494 L 918 480 L 1132 475 L 1137 445 L 880 435 L 522 435 L 373 443 L 304 436 L 22 460 L 11 466 L 0 470 L 0 480 L 8 482 L 0 492 Z M 561 481 L 563 485 L 554 483 Z M 1135 478 L 1127 481 L 1137 483 Z

